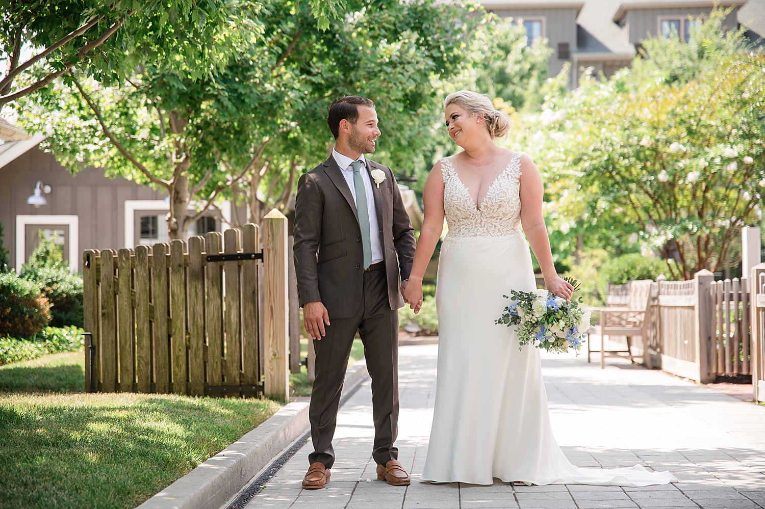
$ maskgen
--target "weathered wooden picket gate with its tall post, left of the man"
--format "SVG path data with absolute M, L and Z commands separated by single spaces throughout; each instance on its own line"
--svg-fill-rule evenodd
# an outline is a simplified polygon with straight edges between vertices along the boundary
M 84 251 L 86 390 L 287 399 L 287 219 L 272 211 L 264 226 L 262 252 L 253 224 Z

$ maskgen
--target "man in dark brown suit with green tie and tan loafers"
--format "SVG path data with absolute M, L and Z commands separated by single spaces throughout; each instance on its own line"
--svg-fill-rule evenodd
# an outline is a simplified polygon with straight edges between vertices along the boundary
M 365 97 L 332 102 L 327 124 L 335 148 L 298 182 L 295 271 L 305 330 L 316 352 L 308 413 L 314 452 L 303 488 L 324 488 L 330 481 L 332 437 L 356 330 L 372 377 L 377 478 L 409 485 L 393 442 L 399 420 L 398 309 L 404 304 L 399 281 L 412 270 L 415 236 L 390 168 L 363 156 L 375 151 L 377 122 L 375 105 Z

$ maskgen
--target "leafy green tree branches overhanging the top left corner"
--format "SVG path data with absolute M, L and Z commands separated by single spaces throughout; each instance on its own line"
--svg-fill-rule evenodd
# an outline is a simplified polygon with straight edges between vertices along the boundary
M 319 24 L 343 0 L 309 0 Z M 265 2 L 238 0 L 8 0 L 0 3 L 0 105 L 54 82 L 74 68 L 99 82 L 122 82 L 135 66 L 155 65 L 200 78 L 226 65 Z M 24 48 L 34 53 L 24 58 Z M 24 60 L 22 60 L 24 58 Z M 15 86 L 17 85 L 18 86 Z

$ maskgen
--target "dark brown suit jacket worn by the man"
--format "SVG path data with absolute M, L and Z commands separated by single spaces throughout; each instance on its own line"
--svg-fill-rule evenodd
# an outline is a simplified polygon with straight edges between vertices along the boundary
M 415 235 L 392 171 L 366 159 L 366 170 L 374 169 L 386 173 L 379 187 L 371 176 L 369 180 L 373 182 L 388 300 L 396 310 L 404 305 L 399 288 L 412 271 Z M 321 300 L 330 319 L 353 316 L 363 291 L 361 229 L 353 195 L 331 155 L 298 181 L 294 235 L 300 305 Z

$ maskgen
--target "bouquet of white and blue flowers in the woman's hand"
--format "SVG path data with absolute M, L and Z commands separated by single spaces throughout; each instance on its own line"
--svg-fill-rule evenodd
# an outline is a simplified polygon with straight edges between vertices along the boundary
M 564 278 L 578 290 L 577 280 Z M 533 292 L 510 290 L 509 306 L 495 323 L 516 326 L 520 346 L 534 345 L 548 352 L 581 349 L 582 336 L 590 328 L 590 312 L 579 307 L 579 300 L 568 302 L 541 288 Z

